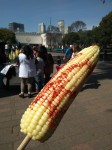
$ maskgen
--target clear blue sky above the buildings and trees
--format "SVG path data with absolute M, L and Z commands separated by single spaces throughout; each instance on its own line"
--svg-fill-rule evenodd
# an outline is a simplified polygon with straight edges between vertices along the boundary
M 0 28 L 8 28 L 10 22 L 24 24 L 25 32 L 38 32 L 38 24 L 57 26 L 64 20 L 65 26 L 83 21 L 87 29 L 98 26 L 104 16 L 112 11 L 112 0 L 1 0 Z

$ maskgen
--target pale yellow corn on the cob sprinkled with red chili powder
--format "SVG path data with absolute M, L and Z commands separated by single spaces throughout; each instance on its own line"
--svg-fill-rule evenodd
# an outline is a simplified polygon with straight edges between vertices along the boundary
M 93 71 L 99 56 L 97 45 L 84 48 L 69 60 L 35 97 L 21 119 L 21 132 L 33 140 L 41 140 L 54 119 L 69 101 L 72 93 L 79 92 L 85 79 Z

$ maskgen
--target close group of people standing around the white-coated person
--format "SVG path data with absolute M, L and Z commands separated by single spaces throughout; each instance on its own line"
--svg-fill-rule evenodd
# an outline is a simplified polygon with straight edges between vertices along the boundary
M 53 57 L 47 53 L 45 46 L 35 46 L 33 49 L 25 45 L 18 55 L 19 77 L 21 78 L 20 97 L 24 97 L 25 85 L 28 85 L 28 97 L 31 97 L 32 85 L 35 84 L 36 92 L 40 92 L 50 80 L 53 73 Z

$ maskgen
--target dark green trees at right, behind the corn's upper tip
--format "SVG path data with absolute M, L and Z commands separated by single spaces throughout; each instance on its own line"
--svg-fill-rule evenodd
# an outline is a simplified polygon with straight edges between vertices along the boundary
M 75 26 L 74 24 L 75 23 L 73 23 L 71 27 L 72 29 L 76 30 L 76 24 Z M 88 31 L 79 30 L 77 27 L 77 30 L 77 32 L 66 34 L 66 36 L 63 38 L 63 43 L 77 43 L 84 46 L 96 43 L 103 47 L 112 45 L 112 12 L 102 18 L 98 27 L 93 27 L 92 30 Z

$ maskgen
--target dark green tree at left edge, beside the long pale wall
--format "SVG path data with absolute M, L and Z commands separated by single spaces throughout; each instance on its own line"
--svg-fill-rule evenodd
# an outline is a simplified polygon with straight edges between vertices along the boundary
M 4 43 L 16 43 L 15 33 L 8 29 L 0 29 L 0 41 Z

